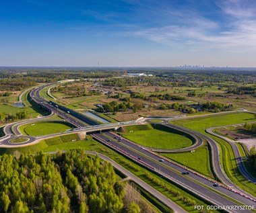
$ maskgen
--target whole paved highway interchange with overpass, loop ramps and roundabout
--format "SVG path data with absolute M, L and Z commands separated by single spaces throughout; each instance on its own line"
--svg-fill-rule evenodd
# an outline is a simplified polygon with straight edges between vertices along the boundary
M 29 140 L 27 142 L 23 142 L 19 144 L 20 146 L 33 144 L 43 138 L 49 138 L 49 137 L 58 136 L 61 134 L 71 134 L 74 132 L 81 132 L 81 131 L 96 132 L 97 130 L 111 130 L 113 128 L 119 128 L 120 126 L 138 123 L 137 121 L 133 121 L 131 123 L 122 122 L 117 124 L 95 125 L 96 123 L 93 120 L 88 120 L 86 116 L 82 116 L 81 114 L 78 114 L 73 110 L 69 110 L 68 108 L 58 105 L 57 103 L 54 103 L 53 101 L 48 101 L 42 98 L 40 95 L 40 91 L 45 87 L 50 87 L 53 85 L 54 84 L 44 85 L 42 87 L 37 87 L 36 89 L 33 89 L 30 92 L 30 97 L 36 103 L 42 105 L 43 108 L 46 108 L 49 111 L 51 111 L 52 113 L 50 116 L 53 116 L 53 114 L 59 114 L 59 116 L 61 116 L 65 121 L 70 122 L 71 124 L 77 126 L 77 129 L 70 132 L 62 132 L 60 134 L 53 134 L 53 135 L 41 136 L 41 137 L 25 136 Z M 43 120 L 45 118 L 40 118 L 40 119 Z M 15 124 L 8 124 L 7 126 L 5 126 L 4 131 L 6 135 L 0 138 L 0 147 L 1 146 L 2 147 L 17 146 L 17 144 L 10 143 L 9 140 L 11 140 L 11 138 L 15 138 L 15 136 L 22 137 L 22 135 L 18 130 L 18 126 L 29 123 L 29 122 L 36 122 L 36 121 L 37 120 L 26 120 L 22 122 L 16 122 Z M 144 122 L 149 122 L 149 121 L 144 120 Z M 162 125 L 168 126 L 169 128 L 174 128 L 181 132 L 185 132 L 186 134 L 190 134 L 195 139 L 195 143 L 193 144 L 193 146 L 189 148 L 183 148 L 179 151 L 191 151 L 197 148 L 198 146 L 200 146 L 203 140 L 207 140 L 207 142 L 210 144 L 212 148 L 212 154 L 213 154 L 212 164 L 214 166 L 214 172 L 216 173 L 218 179 L 222 181 L 222 184 L 220 184 L 219 187 L 214 187 L 214 183 L 215 183 L 214 180 L 208 179 L 207 177 L 203 177 L 203 175 L 199 175 L 198 173 L 188 170 L 187 168 L 182 167 L 181 165 L 172 163 L 168 159 L 164 159 L 158 154 L 153 153 L 150 149 L 143 146 L 139 146 L 134 142 L 131 142 L 125 138 L 121 138 L 121 136 L 118 136 L 113 132 L 101 132 L 101 133 L 96 132 L 96 133 L 92 133 L 92 136 L 96 140 L 100 141 L 102 144 L 105 144 L 106 146 L 113 148 L 118 153 L 121 153 L 122 155 L 127 156 L 129 159 L 136 161 L 136 163 L 143 165 L 143 167 L 148 167 L 148 169 L 154 171 L 155 173 L 158 173 L 165 179 L 169 179 L 170 181 L 183 187 L 183 189 L 187 189 L 193 192 L 193 194 L 200 196 L 201 198 L 203 198 L 204 200 L 207 200 L 212 204 L 216 204 L 218 206 L 238 206 L 238 204 L 236 204 L 232 200 L 226 198 L 225 196 L 222 196 L 222 194 L 224 194 L 234 200 L 237 200 L 243 205 L 246 205 L 246 206 L 256 205 L 255 197 L 247 195 L 245 191 L 242 191 L 241 189 L 238 189 L 238 188 L 231 189 L 230 187 L 228 187 L 229 185 L 232 185 L 232 182 L 228 179 L 228 177 L 226 177 L 226 175 L 224 174 L 224 171 L 222 170 L 222 167 L 220 166 L 218 145 L 212 138 L 205 136 L 204 134 L 201 134 L 199 132 L 188 130 L 187 128 L 168 124 L 168 122 L 166 121 L 164 121 Z M 170 152 L 170 151 L 162 151 L 162 150 L 154 150 L 154 151 Z M 242 164 L 243 163 L 241 163 L 241 165 Z M 184 175 L 183 173 L 185 171 L 189 172 L 189 175 Z M 247 171 L 245 170 L 245 172 Z M 241 173 L 243 173 L 243 170 L 241 171 Z M 243 173 L 243 175 L 247 177 L 246 175 L 248 174 Z M 250 210 L 227 210 L 227 212 L 251 212 L 251 211 Z

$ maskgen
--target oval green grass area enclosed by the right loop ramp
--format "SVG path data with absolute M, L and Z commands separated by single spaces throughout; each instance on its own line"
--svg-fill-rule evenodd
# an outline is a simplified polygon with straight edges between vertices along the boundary
M 183 132 L 158 124 L 125 126 L 125 138 L 151 148 L 177 149 L 191 146 L 193 141 Z

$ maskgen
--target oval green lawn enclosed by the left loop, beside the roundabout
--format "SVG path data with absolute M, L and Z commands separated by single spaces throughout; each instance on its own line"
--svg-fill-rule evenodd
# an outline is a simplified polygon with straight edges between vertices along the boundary
M 22 134 L 30 135 L 30 136 L 40 136 L 45 134 L 55 134 L 58 132 L 65 132 L 65 130 L 69 130 L 73 128 L 72 124 L 61 121 L 47 121 L 47 122 L 35 122 L 32 124 L 25 124 L 20 126 L 20 131 Z

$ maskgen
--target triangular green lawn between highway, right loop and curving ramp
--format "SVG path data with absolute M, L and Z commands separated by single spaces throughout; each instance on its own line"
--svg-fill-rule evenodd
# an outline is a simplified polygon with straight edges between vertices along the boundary
M 213 177 L 210 169 L 209 150 L 207 146 L 201 146 L 193 153 L 162 153 L 161 155 L 167 157 L 168 159 L 172 159 L 177 163 L 185 165 L 186 167 L 203 175 Z

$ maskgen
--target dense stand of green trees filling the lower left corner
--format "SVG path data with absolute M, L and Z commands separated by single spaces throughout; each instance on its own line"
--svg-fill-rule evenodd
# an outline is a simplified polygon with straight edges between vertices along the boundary
M 139 212 L 124 194 L 113 166 L 82 149 L 1 157 L 0 212 Z

